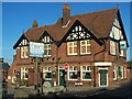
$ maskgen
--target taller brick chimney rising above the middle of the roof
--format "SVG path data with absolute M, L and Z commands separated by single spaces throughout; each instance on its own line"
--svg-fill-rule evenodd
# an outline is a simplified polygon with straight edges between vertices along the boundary
M 70 19 L 70 8 L 68 4 L 65 3 L 63 7 L 63 26 L 67 24 L 69 19 Z

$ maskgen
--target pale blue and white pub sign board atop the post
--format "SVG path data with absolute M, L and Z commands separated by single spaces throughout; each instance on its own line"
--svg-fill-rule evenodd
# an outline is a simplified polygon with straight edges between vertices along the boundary
M 44 57 L 44 44 L 30 42 L 30 56 L 32 57 Z

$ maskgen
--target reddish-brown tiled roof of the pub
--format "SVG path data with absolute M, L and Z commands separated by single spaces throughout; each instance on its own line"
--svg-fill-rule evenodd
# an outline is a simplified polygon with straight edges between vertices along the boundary
M 55 24 L 29 29 L 25 33 L 25 36 L 30 41 L 37 41 L 46 30 L 55 41 L 61 41 L 74 22 L 78 20 L 97 37 L 108 37 L 117 13 L 118 8 L 73 15 L 70 16 L 70 22 L 66 28 L 63 28 L 63 19 L 61 18 Z

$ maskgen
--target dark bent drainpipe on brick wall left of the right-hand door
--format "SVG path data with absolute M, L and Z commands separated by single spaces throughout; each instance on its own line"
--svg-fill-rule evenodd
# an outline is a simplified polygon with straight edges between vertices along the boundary
M 99 53 L 102 53 L 103 51 L 106 51 L 106 42 L 105 40 L 102 40 L 103 42 L 103 50 L 101 50 L 100 52 L 97 52 L 94 54 L 94 63 L 95 63 L 95 56 L 98 55 Z M 96 67 L 95 67 L 95 64 L 94 64 L 94 87 L 96 87 Z

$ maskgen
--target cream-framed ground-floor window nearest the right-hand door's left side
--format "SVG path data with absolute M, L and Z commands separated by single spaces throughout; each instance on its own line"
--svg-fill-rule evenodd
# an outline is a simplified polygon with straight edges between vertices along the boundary
M 91 67 L 90 66 L 81 66 L 81 80 L 91 80 Z

